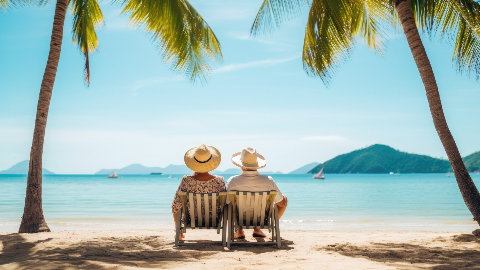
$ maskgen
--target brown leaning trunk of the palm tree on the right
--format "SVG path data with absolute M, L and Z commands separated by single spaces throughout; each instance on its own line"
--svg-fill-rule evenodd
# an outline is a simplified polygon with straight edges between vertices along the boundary
M 403 27 L 405 36 L 407 36 L 408 46 L 412 51 L 413 59 L 417 64 L 420 76 L 427 92 L 428 104 L 432 113 L 433 125 L 437 130 L 440 141 L 442 142 L 448 160 L 455 172 L 456 183 L 460 189 L 463 200 L 468 210 L 473 215 L 473 219 L 480 225 L 480 193 L 472 181 L 470 174 L 463 164 L 462 157 L 458 152 L 455 140 L 448 129 L 447 122 L 442 109 L 442 101 L 438 93 L 437 82 L 433 75 L 432 65 L 427 57 L 427 52 L 423 47 L 420 35 L 415 25 L 415 19 L 408 0 L 393 0 L 398 13 L 398 18 Z

